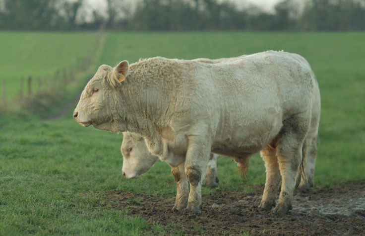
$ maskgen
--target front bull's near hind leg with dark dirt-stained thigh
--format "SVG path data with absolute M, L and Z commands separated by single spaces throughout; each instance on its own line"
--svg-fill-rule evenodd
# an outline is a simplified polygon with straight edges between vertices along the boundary
M 292 209 L 293 192 L 299 165 L 303 159 L 303 141 L 308 130 L 306 114 L 298 114 L 283 122 L 277 139 L 277 158 L 282 177 L 281 191 L 274 212 L 285 214 Z

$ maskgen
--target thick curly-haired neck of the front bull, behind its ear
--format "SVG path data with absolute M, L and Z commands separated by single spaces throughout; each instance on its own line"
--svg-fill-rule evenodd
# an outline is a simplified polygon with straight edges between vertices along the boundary
M 143 68 L 142 68 L 143 67 Z M 122 86 L 122 94 L 128 107 L 125 114 L 126 129 L 145 137 L 155 137 L 156 129 L 168 125 L 166 117 L 173 87 L 153 67 L 131 65 Z

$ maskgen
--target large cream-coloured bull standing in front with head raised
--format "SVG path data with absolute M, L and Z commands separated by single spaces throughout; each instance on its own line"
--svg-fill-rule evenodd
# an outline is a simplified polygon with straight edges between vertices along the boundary
M 260 207 L 275 204 L 272 196 L 281 175 L 275 212 L 286 213 L 316 84 L 305 59 L 286 52 L 257 53 L 225 64 L 157 57 L 129 67 L 123 61 L 114 69 L 99 68 L 74 118 L 84 126 L 142 135 L 153 155 L 179 169 L 176 178 L 187 178 L 186 209 L 194 212 L 200 211 L 210 152 L 233 157 L 245 169 L 248 158 L 262 150 L 267 179 Z

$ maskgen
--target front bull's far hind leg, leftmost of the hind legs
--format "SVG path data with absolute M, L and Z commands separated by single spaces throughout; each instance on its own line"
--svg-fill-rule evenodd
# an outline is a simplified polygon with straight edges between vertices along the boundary
M 275 206 L 276 191 L 278 190 L 280 182 L 279 164 L 278 158 L 276 157 L 276 150 L 272 147 L 267 146 L 260 154 L 265 161 L 266 182 L 259 207 L 269 211 Z

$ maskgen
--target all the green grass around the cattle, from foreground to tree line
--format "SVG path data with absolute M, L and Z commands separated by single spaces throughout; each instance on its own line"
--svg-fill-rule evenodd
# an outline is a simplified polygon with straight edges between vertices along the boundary
M 115 66 L 152 56 L 220 58 L 282 49 L 299 53 L 311 64 L 321 90 L 315 183 L 365 182 L 365 33 L 113 32 L 105 33 L 101 53 L 95 55 L 91 35 L 0 33 L 0 49 L 6 50 L 0 57 L 0 77 L 16 84 L 16 78 L 54 73 L 85 55 L 96 55 L 97 64 Z M 140 178 L 125 179 L 122 135 L 84 128 L 71 112 L 48 121 L 33 115 L 0 118 L 0 235 L 163 234 L 163 226 L 112 208 L 104 192 L 121 189 L 173 198 L 176 185 L 168 165 L 158 161 Z M 218 159 L 218 174 L 218 189 L 204 187 L 203 194 L 247 192 L 265 181 L 258 155 L 251 158 L 244 181 L 231 158 Z

